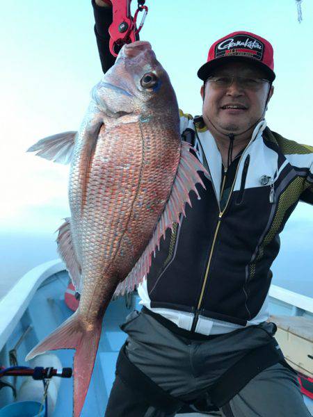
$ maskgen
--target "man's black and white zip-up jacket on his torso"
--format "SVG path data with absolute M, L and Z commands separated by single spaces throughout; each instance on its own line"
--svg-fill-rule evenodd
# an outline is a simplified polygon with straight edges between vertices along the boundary
M 195 132 L 207 165 L 206 190 L 192 192 L 192 208 L 167 231 L 138 288 L 142 304 L 183 329 L 230 332 L 268 318 L 271 265 L 279 234 L 299 200 L 313 204 L 313 147 L 299 145 L 260 122 L 237 165 L 232 191 L 220 209 L 222 160 L 203 124 L 181 113 L 181 131 Z

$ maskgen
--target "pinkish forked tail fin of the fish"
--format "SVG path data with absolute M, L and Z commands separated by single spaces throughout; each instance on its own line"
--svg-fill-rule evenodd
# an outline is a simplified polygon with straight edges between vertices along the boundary
M 86 327 L 79 319 L 78 311 L 60 327 L 49 334 L 29 352 L 26 361 L 47 350 L 75 349 L 74 354 L 74 406 L 73 417 L 79 417 L 90 384 L 95 358 L 101 336 L 102 324 Z

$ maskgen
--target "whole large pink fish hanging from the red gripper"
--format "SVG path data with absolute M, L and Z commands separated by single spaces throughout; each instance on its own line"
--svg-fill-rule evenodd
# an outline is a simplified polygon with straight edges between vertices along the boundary
M 170 78 L 145 41 L 122 47 L 93 88 L 79 131 L 43 138 L 28 150 L 70 163 L 71 217 L 57 243 L 80 302 L 26 361 L 48 350 L 75 350 L 73 416 L 79 417 L 106 307 L 143 281 L 166 229 L 191 205 L 189 193 L 198 195 L 197 183 L 204 187 L 199 172 L 207 172 L 182 141 Z

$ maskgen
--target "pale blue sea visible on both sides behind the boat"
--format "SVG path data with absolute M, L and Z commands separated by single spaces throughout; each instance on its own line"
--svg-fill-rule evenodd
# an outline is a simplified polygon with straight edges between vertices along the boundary
M 271 268 L 272 284 L 313 298 L 313 216 L 307 215 L 312 206 L 299 206 L 280 234 L 280 254 Z M 26 272 L 59 258 L 55 230 L 0 230 L 0 299 Z

